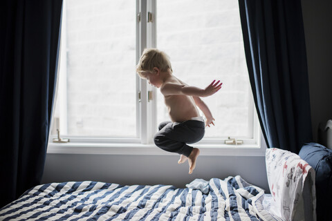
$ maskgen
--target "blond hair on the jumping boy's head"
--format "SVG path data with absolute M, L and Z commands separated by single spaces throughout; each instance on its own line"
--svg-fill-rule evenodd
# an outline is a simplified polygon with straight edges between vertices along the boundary
M 168 69 L 173 72 L 171 61 L 169 61 L 168 55 L 165 52 L 156 48 L 146 48 L 138 65 L 136 66 L 136 72 L 142 77 L 142 72 L 154 72 L 154 67 L 159 68 L 160 71 L 167 71 Z

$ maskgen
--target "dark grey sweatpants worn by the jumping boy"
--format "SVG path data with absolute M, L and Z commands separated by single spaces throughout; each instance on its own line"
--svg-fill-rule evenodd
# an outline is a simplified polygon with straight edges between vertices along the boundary
M 189 157 L 192 146 L 199 142 L 205 134 L 205 123 L 199 120 L 187 120 L 182 123 L 163 122 L 154 135 L 154 143 L 164 151 L 178 153 Z

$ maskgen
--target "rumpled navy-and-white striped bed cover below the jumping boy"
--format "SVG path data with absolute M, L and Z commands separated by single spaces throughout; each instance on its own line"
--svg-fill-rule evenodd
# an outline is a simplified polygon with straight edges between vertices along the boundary
M 208 185 L 204 194 L 167 185 L 42 184 L 0 209 L 0 220 L 275 220 L 261 204 L 264 190 L 240 176 Z

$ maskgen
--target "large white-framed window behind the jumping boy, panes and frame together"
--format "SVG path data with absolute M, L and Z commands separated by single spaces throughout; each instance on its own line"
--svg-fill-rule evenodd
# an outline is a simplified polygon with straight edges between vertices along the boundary
M 71 145 L 153 144 L 169 117 L 160 92 L 136 75 L 144 48 L 164 50 L 187 84 L 223 82 L 203 98 L 216 126 L 200 145 L 224 146 L 228 137 L 258 145 L 237 1 L 65 0 L 62 17 L 50 146 L 61 146 L 52 143 L 57 130 Z

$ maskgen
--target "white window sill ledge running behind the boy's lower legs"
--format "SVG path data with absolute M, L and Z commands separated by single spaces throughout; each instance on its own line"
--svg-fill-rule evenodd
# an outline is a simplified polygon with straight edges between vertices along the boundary
M 196 144 L 200 155 L 205 156 L 264 156 L 265 146 L 255 144 Z M 133 143 L 66 143 L 48 144 L 48 154 L 96 154 L 96 155 L 174 155 L 154 144 Z

